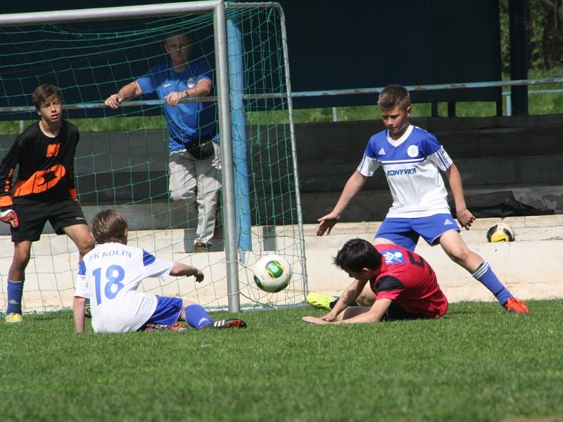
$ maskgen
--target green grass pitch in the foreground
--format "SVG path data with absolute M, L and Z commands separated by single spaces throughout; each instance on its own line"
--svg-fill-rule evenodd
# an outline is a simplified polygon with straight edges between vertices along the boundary
M 450 305 L 443 319 L 76 335 L 70 313 L 0 326 L 3 421 L 529 421 L 563 416 L 563 300 L 531 314 Z M 217 318 L 225 314 L 215 314 Z M 559 419 L 557 419 L 559 420 Z

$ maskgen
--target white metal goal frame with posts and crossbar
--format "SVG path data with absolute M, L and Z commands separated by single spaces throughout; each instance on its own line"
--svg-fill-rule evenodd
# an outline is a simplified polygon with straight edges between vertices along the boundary
M 293 106 L 291 103 L 291 84 L 289 79 L 289 58 L 285 17 L 283 9 L 278 3 L 244 3 L 225 4 L 224 0 L 190 1 L 169 4 L 151 4 L 144 6 L 120 6 L 110 8 L 87 8 L 70 11 L 48 11 L 32 13 L 6 13 L 0 15 L 0 26 L 14 25 L 44 25 L 47 23 L 71 23 L 93 20 L 113 20 L 123 18 L 146 18 L 149 16 L 181 15 L 184 13 L 213 13 L 213 32 L 215 42 L 215 69 L 217 73 L 217 103 L 219 115 L 219 129 L 221 133 L 220 151 L 222 159 L 222 196 L 223 221 L 225 227 L 225 261 L 227 270 L 227 295 L 229 312 L 241 310 L 239 296 L 239 252 L 237 249 L 236 210 L 234 193 L 234 162 L 232 155 L 232 123 L 231 98 L 229 96 L 229 56 L 227 51 L 227 18 L 226 8 L 275 7 L 279 11 L 282 34 L 282 53 L 284 60 L 284 77 L 287 108 L 290 115 L 289 134 L 293 159 L 293 177 L 296 186 L 296 213 L 300 248 L 303 254 L 303 293 L 307 294 L 307 271 L 305 266 L 305 245 L 303 240 L 303 212 L 299 193 L 297 149 L 295 127 L 293 123 Z M 279 96 L 279 94 L 277 94 Z M 275 96 L 275 94 L 274 94 Z M 124 106 L 127 103 L 123 104 Z

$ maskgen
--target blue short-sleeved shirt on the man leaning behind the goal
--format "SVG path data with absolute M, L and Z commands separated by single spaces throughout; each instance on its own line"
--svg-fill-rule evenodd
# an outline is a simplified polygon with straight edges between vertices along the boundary
M 144 94 L 156 91 L 158 98 L 163 99 L 170 92 L 193 88 L 201 79 L 213 82 L 208 64 L 196 59 L 182 72 L 175 72 L 170 63 L 158 63 L 137 83 Z M 165 104 L 163 108 L 170 132 L 170 151 L 184 149 L 200 136 L 216 132 L 215 103 L 179 103 L 176 107 Z

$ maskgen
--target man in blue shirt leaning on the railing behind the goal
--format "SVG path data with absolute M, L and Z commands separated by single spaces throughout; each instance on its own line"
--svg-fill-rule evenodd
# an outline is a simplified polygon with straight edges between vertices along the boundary
M 118 108 L 122 101 L 154 92 L 166 101 L 164 115 L 170 132 L 170 198 L 198 205 L 198 226 L 194 250 L 205 252 L 215 230 L 219 199 L 220 157 L 217 145 L 215 105 L 182 98 L 208 96 L 213 79 L 208 63 L 190 60 L 191 36 L 170 34 L 164 44 L 168 60 L 153 66 L 146 75 L 122 87 L 106 99 L 106 106 Z

